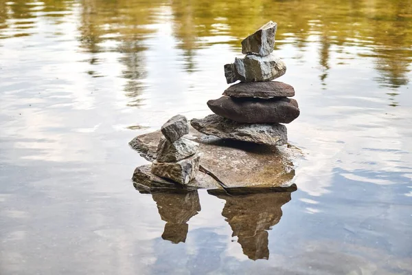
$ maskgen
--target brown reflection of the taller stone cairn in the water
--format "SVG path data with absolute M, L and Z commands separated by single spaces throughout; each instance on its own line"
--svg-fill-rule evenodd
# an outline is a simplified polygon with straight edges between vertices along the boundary
M 226 201 L 222 216 L 233 230 L 232 236 L 238 236 L 243 253 L 252 260 L 269 259 L 266 230 L 279 223 L 281 208 L 290 201 L 290 192 L 217 197 Z

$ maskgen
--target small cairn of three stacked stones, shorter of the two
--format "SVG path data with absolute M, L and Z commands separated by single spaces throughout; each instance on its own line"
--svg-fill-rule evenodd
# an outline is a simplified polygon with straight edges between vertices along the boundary
M 171 179 L 179 184 L 188 184 L 199 170 L 199 144 L 183 137 L 189 133 L 189 124 L 183 115 L 175 115 L 161 126 L 157 157 L 152 164 L 152 173 Z

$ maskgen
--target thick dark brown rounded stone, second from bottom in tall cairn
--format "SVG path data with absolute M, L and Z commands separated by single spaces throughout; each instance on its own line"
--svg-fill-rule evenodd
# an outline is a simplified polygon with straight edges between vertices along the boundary
M 207 106 L 224 118 L 243 123 L 290 123 L 299 116 L 297 101 L 290 98 L 232 98 L 209 100 Z

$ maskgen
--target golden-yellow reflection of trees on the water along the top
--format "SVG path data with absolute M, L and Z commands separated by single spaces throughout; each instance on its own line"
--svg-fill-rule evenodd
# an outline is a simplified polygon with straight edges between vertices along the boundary
M 164 12 L 170 8 L 170 12 Z M 91 54 L 102 51 L 124 53 L 123 77 L 129 80 L 126 94 L 137 98 L 145 78 L 145 40 L 156 35 L 150 25 L 172 23 L 176 47 L 183 50 L 185 69 L 196 69 L 196 50 L 225 43 L 236 50 L 240 41 L 255 28 L 273 19 L 279 23 L 277 46 L 292 43 L 302 51 L 317 41 L 320 78 L 324 82 L 330 69 L 332 46 L 360 47 L 356 58 L 375 59 L 375 80 L 397 88 L 409 81 L 412 60 L 412 5 L 398 1 L 2 1 L 0 3 L 0 38 L 27 36 L 35 17 L 65 17 L 80 10 L 80 47 Z M 59 21 L 54 21 L 58 23 Z M 118 42 L 103 47 L 105 41 Z M 367 50 L 366 52 L 363 50 Z M 304 54 L 298 58 L 304 58 Z M 96 62 L 91 58 L 90 63 Z M 91 72 L 93 75 L 93 72 Z M 391 95 L 389 95 L 391 96 Z M 141 102 L 134 100 L 132 106 Z

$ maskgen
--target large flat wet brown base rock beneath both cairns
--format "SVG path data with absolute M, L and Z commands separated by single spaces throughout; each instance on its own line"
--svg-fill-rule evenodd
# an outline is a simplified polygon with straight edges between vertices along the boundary
M 251 192 L 293 191 L 296 190 L 292 179 L 295 176 L 291 158 L 299 153 L 291 148 L 280 148 L 238 142 L 211 137 L 199 133 L 190 127 L 186 138 L 200 144 L 198 152 L 201 154 L 200 170 L 196 179 L 188 186 L 179 186 L 152 175 L 149 166 L 136 168 L 133 181 L 140 188 L 220 188 L 233 190 L 233 194 L 247 194 Z M 143 157 L 153 161 L 156 158 L 157 144 L 161 138 L 161 131 L 139 135 L 130 141 L 130 146 L 139 151 Z

